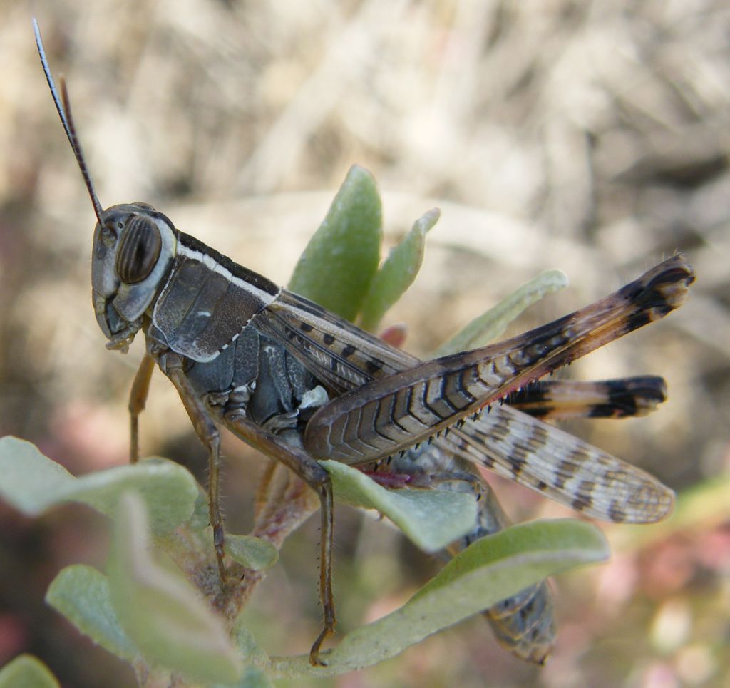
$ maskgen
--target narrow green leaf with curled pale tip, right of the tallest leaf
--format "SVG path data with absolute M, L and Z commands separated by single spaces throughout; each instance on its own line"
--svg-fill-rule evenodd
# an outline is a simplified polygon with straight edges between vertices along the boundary
M 433 208 L 418 218 L 411 231 L 388 253 L 363 303 L 361 322 L 364 329 L 374 331 L 388 308 L 412 285 L 423 262 L 426 232 L 437 223 L 440 215 L 441 211 Z

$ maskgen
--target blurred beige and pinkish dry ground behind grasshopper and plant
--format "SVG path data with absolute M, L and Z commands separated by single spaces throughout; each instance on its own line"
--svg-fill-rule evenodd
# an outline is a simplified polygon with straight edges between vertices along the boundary
M 520 664 L 481 619 L 318 685 L 727 686 L 730 668 L 730 7 L 721 0 L 0 0 L 0 431 L 80 475 L 127 460 L 142 341 L 104 348 L 91 309 L 94 217 L 34 45 L 65 74 L 104 206 L 150 202 L 185 232 L 285 283 L 347 169 L 383 193 L 392 244 L 430 207 L 418 282 L 387 316 L 425 356 L 548 267 L 572 286 L 510 335 L 602 297 L 677 250 L 697 281 L 666 321 L 563 375 L 663 375 L 653 416 L 569 429 L 685 500 L 654 527 L 602 526 L 612 561 L 555 581 L 558 646 Z M 204 479 L 161 375 L 143 454 Z M 264 459 L 226 437 L 226 513 L 253 518 Z M 723 478 L 725 482 L 723 483 Z M 515 520 L 569 516 L 493 481 Z M 316 519 L 315 519 L 316 520 Z M 337 511 L 342 632 L 436 570 L 383 524 Z M 272 654 L 319 628 L 316 524 L 285 543 L 247 610 Z M 81 507 L 0 505 L 0 665 L 22 651 L 66 686 L 131 670 L 43 602 L 58 570 L 103 567 L 107 524 Z

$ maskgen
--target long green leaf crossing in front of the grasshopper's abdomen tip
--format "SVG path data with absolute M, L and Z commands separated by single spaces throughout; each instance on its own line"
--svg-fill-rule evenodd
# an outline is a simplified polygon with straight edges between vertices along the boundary
M 535 521 L 482 538 L 405 605 L 342 638 L 312 668 L 308 657 L 272 658 L 273 676 L 328 676 L 383 662 L 427 635 L 570 567 L 608 557 L 602 533 L 581 521 Z

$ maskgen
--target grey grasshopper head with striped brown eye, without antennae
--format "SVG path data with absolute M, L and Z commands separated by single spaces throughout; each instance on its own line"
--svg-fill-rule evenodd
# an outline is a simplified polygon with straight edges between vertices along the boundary
M 172 222 L 146 203 L 114 205 L 93 233 L 91 288 L 109 348 L 126 349 L 164 284 L 176 247 Z

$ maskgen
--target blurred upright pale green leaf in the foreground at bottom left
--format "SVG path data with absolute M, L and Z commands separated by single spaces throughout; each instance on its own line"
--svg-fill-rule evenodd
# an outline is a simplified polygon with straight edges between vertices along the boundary
M 243 667 L 223 619 L 174 565 L 150 554 L 145 502 L 124 494 L 115 519 L 110 598 L 119 622 L 145 659 L 211 683 L 234 683 Z

